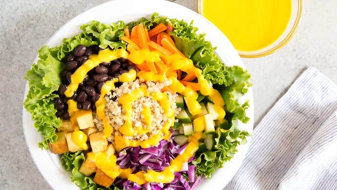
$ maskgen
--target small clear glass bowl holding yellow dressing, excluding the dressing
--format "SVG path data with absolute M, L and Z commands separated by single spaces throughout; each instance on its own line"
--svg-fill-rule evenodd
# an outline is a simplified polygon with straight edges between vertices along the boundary
M 202 1 L 203 0 L 197 0 L 197 12 L 200 15 L 203 15 Z M 240 57 L 245 57 L 245 58 L 264 57 L 282 48 L 295 35 L 298 23 L 301 19 L 302 9 L 303 9 L 302 0 L 292 0 L 292 14 L 291 14 L 288 26 L 283 32 L 283 34 L 280 36 L 280 38 L 274 41 L 274 43 L 272 43 L 271 45 L 265 48 L 256 50 L 256 51 L 250 51 L 250 52 L 238 51 Z

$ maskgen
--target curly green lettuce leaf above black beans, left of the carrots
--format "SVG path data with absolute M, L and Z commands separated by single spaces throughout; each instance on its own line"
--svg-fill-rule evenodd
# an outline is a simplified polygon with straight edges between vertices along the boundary
M 126 25 L 123 21 L 107 25 L 99 21 L 92 20 L 89 24 L 83 24 L 81 26 L 81 30 L 84 31 L 84 34 L 91 35 L 97 39 L 99 46 L 103 49 L 107 46 L 111 49 L 125 49 L 126 43 L 120 39 L 124 36 L 125 27 Z

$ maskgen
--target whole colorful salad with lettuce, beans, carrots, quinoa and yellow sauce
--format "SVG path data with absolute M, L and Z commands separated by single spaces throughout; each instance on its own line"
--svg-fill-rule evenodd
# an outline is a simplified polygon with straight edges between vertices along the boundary
M 157 13 L 91 21 L 43 46 L 25 109 L 85 190 L 190 190 L 246 142 L 250 74 L 226 66 L 193 22 Z

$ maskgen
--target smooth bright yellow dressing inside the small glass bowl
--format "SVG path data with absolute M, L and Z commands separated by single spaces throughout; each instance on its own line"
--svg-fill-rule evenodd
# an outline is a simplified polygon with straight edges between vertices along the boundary
M 281 37 L 292 13 L 292 0 L 203 0 L 203 16 L 238 51 L 268 47 Z

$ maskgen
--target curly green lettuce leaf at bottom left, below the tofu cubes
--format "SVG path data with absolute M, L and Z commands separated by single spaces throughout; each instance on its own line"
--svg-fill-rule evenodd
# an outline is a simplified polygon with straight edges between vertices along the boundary
M 117 187 L 111 186 L 111 188 L 105 188 L 96 184 L 93 180 L 93 176 L 83 175 L 79 169 L 84 162 L 84 153 L 78 152 L 66 152 L 61 157 L 61 164 L 66 171 L 72 173 L 71 181 L 74 182 L 82 190 L 120 190 Z

